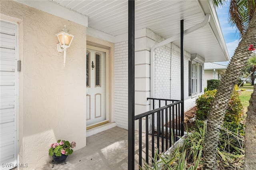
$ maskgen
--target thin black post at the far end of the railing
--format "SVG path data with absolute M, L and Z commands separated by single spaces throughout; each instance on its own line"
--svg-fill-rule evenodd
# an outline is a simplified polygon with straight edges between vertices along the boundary
M 181 136 L 184 135 L 184 20 L 180 20 L 180 100 L 181 103 Z

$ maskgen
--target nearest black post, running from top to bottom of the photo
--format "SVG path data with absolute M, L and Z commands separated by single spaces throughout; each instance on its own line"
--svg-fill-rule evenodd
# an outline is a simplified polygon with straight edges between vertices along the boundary
M 134 170 L 134 0 L 128 0 L 128 170 Z

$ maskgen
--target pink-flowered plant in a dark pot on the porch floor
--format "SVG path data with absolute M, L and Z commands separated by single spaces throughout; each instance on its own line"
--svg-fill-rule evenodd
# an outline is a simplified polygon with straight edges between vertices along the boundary
M 60 163 L 66 160 L 69 154 L 73 153 L 73 149 L 76 147 L 76 142 L 69 142 L 65 140 L 58 140 L 57 143 L 53 143 L 49 149 L 49 155 L 52 156 L 52 163 Z

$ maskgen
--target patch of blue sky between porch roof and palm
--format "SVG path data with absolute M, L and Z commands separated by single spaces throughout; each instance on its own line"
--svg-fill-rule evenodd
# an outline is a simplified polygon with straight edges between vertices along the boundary
M 234 51 L 239 43 L 239 33 L 236 32 L 236 28 L 232 28 L 228 23 L 228 10 L 229 3 L 223 7 L 217 9 L 217 14 L 220 22 L 220 27 L 226 42 L 226 46 L 228 48 L 228 54 L 230 58 L 233 56 Z M 228 65 L 229 62 L 218 62 L 223 65 Z

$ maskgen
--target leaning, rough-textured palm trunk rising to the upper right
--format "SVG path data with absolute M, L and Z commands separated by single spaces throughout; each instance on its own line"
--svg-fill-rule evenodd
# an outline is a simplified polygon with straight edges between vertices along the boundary
M 218 92 L 215 96 L 207 121 L 204 148 L 204 168 L 210 170 L 218 169 L 217 148 L 219 140 L 220 126 L 223 124 L 228 101 L 242 74 L 242 68 L 251 55 L 248 50 L 250 44 L 256 45 L 256 13 L 254 14 L 246 33 L 238 44 L 236 51 L 222 77 Z

